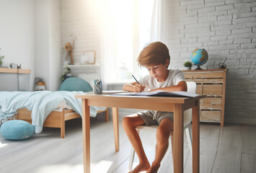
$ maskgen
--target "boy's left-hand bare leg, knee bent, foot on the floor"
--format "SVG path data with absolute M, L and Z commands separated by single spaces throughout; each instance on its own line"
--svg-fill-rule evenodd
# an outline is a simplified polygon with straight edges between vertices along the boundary
M 146 154 L 144 148 L 141 143 L 141 138 L 138 135 L 136 130 L 137 125 L 143 125 L 144 120 L 137 114 L 128 115 L 123 118 L 123 129 L 125 130 L 126 135 L 128 136 L 131 145 L 133 146 L 134 150 L 139 159 L 138 166 L 133 169 L 131 172 L 142 172 L 149 169 L 150 164 L 148 159 L 146 158 Z

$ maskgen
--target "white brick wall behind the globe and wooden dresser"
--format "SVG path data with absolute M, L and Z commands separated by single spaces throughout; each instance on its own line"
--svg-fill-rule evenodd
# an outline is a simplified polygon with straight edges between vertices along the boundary
M 168 2 L 166 43 L 172 68 L 184 69 L 195 48 L 208 51 L 204 69 L 219 68 L 227 58 L 225 121 L 256 124 L 256 1 Z

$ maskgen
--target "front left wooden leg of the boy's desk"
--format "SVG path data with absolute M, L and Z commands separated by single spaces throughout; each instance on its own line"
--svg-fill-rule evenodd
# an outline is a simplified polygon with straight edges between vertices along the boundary
M 81 99 L 84 173 L 90 172 L 90 116 L 87 99 Z

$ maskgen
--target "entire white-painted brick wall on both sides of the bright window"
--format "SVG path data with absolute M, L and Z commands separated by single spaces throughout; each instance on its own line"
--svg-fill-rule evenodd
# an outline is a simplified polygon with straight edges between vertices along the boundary
M 61 1 L 61 43 L 75 39 L 75 63 L 83 51 L 95 50 L 100 64 L 99 25 L 92 20 L 96 14 L 89 5 L 84 0 Z M 225 120 L 256 124 L 255 0 L 167 1 L 166 43 L 172 68 L 184 69 L 183 63 L 195 48 L 208 50 L 204 69 L 219 68 L 228 58 Z M 74 72 L 100 74 L 100 68 Z

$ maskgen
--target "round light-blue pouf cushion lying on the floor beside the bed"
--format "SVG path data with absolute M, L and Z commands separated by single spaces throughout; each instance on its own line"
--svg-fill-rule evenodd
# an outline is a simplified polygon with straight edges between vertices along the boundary
M 10 140 L 30 138 L 34 134 L 34 127 L 24 120 L 9 120 L 1 125 L 1 136 Z

